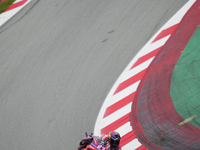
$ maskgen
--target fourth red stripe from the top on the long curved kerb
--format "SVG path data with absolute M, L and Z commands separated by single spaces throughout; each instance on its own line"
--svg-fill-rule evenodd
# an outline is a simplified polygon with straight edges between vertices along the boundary
M 118 109 L 120 109 L 120 108 L 124 107 L 125 105 L 127 105 L 128 103 L 132 102 L 134 100 L 134 97 L 135 97 L 135 92 L 133 92 L 132 94 L 128 95 L 127 97 L 121 99 L 119 102 L 107 107 L 103 118 L 109 116 L 113 112 L 117 111 Z

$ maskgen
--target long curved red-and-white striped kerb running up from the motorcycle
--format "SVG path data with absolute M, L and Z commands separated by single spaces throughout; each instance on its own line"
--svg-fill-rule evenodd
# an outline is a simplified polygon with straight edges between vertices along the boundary
M 165 45 L 181 19 L 196 0 L 187 2 L 139 51 L 108 94 L 95 125 L 95 135 L 117 131 L 123 150 L 147 150 L 130 125 L 131 106 L 137 87 L 157 52 Z

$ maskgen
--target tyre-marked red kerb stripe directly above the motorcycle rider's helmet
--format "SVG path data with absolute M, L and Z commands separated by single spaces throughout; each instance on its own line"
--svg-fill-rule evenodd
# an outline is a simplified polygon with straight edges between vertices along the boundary
M 126 114 L 122 118 L 116 120 L 115 122 L 101 129 L 101 134 L 108 134 L 110 131 L 116 130 L 117 128 L 121 127 L 123 124 L 127 123 L 129 119 L 130 119 L 130 113 Z

